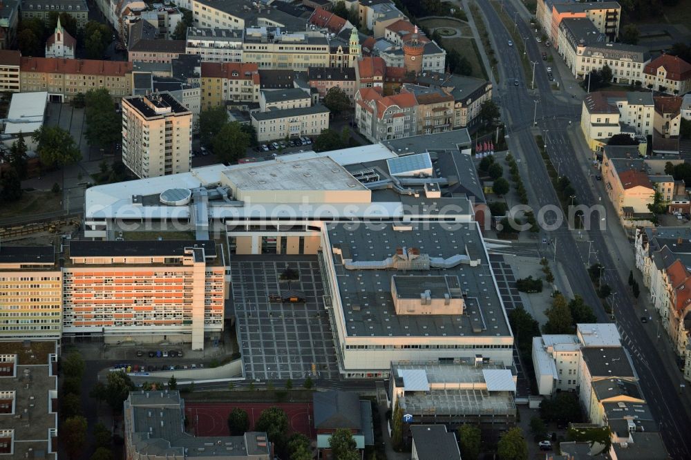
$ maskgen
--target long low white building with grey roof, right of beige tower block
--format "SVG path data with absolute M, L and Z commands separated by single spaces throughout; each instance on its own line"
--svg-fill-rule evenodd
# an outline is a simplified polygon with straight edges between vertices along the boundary
M 283 140 L 286 137 L 316 136 L 329 128 L 329 109 L 321 104 L 285 108 L 250 115 L 258 142 Z

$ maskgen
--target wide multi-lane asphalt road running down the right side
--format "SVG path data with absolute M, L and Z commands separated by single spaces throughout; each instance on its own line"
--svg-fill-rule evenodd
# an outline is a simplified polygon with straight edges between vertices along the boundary
M 511 80 L 510 86 L 507 85 L 509 79 L 520 78 L 519 59 L 522 58 L 522 52 L 519 54 L 515 46 L 508 45 L 511 36 L 489 2 L 478 1 L 476 4 L 480 6 L 489 22 L 488 30 L 491 31 L 502 75 L 498 94 L 504 111 L 504 119 L 507 120 L 509 126 L 509 148 L 522 159 L 520 169 L 523 177 L 528 179 L 524 182 L 529 184 L 531 189 L 529 191 L 531 204 L 538 209 L 548 205 L 558 206 L 556 193 L 551 186 L 533 137 L 537 133 L 532 126 L 533 120 L 537 122 L 536 125 L 548 144 L 547 151 L 553 164 L 558 165 L 560 174 L 567 175 L 576 189 L 578 202 L 588 205 L 602 204 L 600 197 L 593 193 L 591 184 L 588 182 L 591 180 L 587 174 L 589 155 L 580 148 L 574 148 L 569 138 L 569 121 L 578 123 L 580 119 L 580 100 L 574 99 L 573 104 L 569 104 L 553 96 L 543 68 L 545 64 L 540 57 L 544 47 L 535 41 L 534 31 L 521 18 L 522 11 L 518 14 L 518 30 L 522 36 L 529 37 L 527 40 L 529 59 L 539 61 L 536 66 L 536 90 L 531 91 L 526 88 L 529 82 L 527 85 L 523 83 L 515 87 Z M 513 2 L 504 1 L 504 8 L 512 17 L 515 15 Z M 520 80 L 522 81 L 522 78 Z M 538 104 L 535 101 L 539 101 Z M 549 221 L 549 218 L 547 220 Z M 595 220 L 597 223 L 599 219 Z M 612 298 L 614 313 L 616 318 L 625 319 L 618 322 L 618 327 L 625 346 L 632 354 L 641 387 L 650 404 L 652 414 L 661 424 L 661 434 L 665 445 L 672 458 L 691 458 L 691 450 L 684 434 L 691 429 L 691 417 L 685 410 L 685 403 L 688 401 L 682 401 L 682 398 L 688 399 L 688 395 L 680 395 L 681 375 L 674 365 L 670 365 L 670 356 L 661 356 L 659 345 L 652 341 L 650 332 L 644 329 L 644 325 L 636 320 L 635 316 L 634 320 L 630 320 L 632 305 L 635 301 L 621 276 L 622 273 L 628 275 L 629 269 L 634 267 L 622 267 L 623 258 L 618 247 L 612 242 L 612 238 L 621 238 L 621 231 L 615 232 L 612 229 L 619 223 L 611 207 L 609 207 L 608 220 L 605 230 L 600 231 L 596 224 L 593 226 L 595 228 L 587 231 L 587 240 L 592 241 L 592 249 L 597 251 L 598 261 L 610 268 L 604 276 L 606 282 L 612 287 L 612 291 L 616 292 Z M 587 262 L 584 263 L 584 260 L 588 255 L 588 245 L 585 245 L 585 249 L 584 245 L 579 247 L 574 233 L 576 232 L 565 225 L 549 232 L 550 238 L 556 238 L 556 258 L 567 271 L 574 292 L 581 294 L 586 303 L 596 307 L 596 315 L 600 321 L 607 322 L 609 318 L 600 307 L 600 301 L 585 269 Z M 606 238 L 612 242 L 610 245 L 607 245 Z M 592 258 L 591 262 L 595 262 L 595 258 Z

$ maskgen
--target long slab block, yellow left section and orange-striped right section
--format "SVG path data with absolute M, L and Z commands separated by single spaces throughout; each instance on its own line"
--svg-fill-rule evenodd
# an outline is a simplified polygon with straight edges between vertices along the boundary
M 28 271 L 34 251 L 46 271 Z M 23 267 L 10 265 L 12 258 Z M 15 280 L 24 289 L 9 289 Z M 34 285 L 48 287 L 34 296 Z M 72 241 L 61 269 L 53 247 L 1 247 L 0 291 L 17 294 L 0 295 L 0 339 L 93 337 L 203 349 L 205 335 L 223 331 L 227 289 L 220 247 L 170 240 Z

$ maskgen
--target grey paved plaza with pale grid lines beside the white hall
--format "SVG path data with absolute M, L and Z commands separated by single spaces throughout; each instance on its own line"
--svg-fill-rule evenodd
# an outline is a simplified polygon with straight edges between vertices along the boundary
M 299 271 L 290 287 L 279 282 L 287 268 Z M 311 260 L 230 262 L 231 291 L 245 374 L 260 380 L 339 378 L 328 315 L 322 302 L 319 263 Z M 305 303 L 269 303 L 269 294 L 294 289 Z

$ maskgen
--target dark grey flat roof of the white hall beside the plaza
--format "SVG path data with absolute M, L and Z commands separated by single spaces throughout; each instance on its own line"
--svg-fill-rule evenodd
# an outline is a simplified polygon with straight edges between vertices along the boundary
M 401 227 L 397 227 L 401 228 Z M 334 253 L 345 334 L 355 336 L 511 336 L 504 306 L 495 285 L 477 222 L 417 222 L 398 231 L 392 224 L 377 229 L 367 224 L 334 224 L 328 230 L 332 247 L 339 246 L 343 259 L 379 262 L 393 256 L 397 248 L 417 248 L 430 258 L 447 260 L 466 256 L 480 260 L 472 267 L 460 263 L 450 268 L 428 270 L 346 269 Z M 457 276 L 464 291 L 463 315 L 417 316 L 396 314 L 391 297 L 391 276 Z M 336 293 L 334 293 L 336 294 Z

